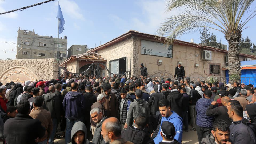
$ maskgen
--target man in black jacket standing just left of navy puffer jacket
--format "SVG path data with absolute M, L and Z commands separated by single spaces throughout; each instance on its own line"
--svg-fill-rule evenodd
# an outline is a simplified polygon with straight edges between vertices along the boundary
M 190 113 L 191 122 L 192 122 L 192 129 L 190 129 L 190 130 L 195 131 L 196 130 L 195 120 L 197 118 L 197 113 L 195 111 L 195 105 L 197 104 L 197 100 L 202 97 L 197 92 L 197 90 L 195 90 L 197 85 L 194 83 L 190 83 L 190 85 L 191 85 L 191 90 L 190 90 L 190 94 L 189 94 L 189 113 Z

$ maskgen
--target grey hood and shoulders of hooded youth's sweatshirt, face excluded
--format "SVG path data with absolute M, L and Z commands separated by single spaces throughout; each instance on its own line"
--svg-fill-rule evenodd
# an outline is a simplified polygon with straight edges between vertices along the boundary
M 83 144 L 93 144 L 91 142 L 89 142 L 89 140 L 87 139 L 87 130 L 86 130 L 86 126 L 83 122 L 76 122 L 71 130 L 71 142 L 69 144 L 76 144 L 76 142 L 73 139 L 73 136 L 75 135 L 76 132 L 78 131 L 83 131 L 84 135 L 85 135 L 85 139 L 83 141 Z

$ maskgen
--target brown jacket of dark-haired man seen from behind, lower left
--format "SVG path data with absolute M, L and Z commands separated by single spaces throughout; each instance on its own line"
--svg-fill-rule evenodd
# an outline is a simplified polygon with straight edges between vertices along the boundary
M 45 139 L 48 139 L 51 135 L 51 131 L 53 130 L 53 122 L 51 120 L 50 112 L 43 109 L 43 107 L 39 107 L 37 109 L 32 109 L 29 116 L 33 119 L 38 119 L 42 123 L 42 126 L 46 129 L 45 135 L 40 138 L 38 142 L 42 142 Z

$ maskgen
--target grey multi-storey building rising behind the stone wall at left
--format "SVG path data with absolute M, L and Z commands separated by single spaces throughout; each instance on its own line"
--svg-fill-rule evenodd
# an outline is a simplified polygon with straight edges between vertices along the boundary
M 52 36 L 40 36 L 35 31 L 18 30 L 17 36 L 17 55 L 16 59 L 44 59 L 57 58 L 57 51 L 66 60 L 67 54 L 67 37 L 53 38 Z

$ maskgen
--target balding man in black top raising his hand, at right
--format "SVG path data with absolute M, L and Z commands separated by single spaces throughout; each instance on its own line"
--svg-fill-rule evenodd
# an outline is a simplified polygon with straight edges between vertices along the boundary
M 214 107 L 217 105 L 217 101 L 211 102 L 211 105 L 206 110 L 207 116 L 215 116 L 215 120 L 222 119 L 227 122 L 227 124 L 230 126 L 232 121 L 229 118 L 229 114 L 227 113 L 227 104 L 230 101 L 229 97 L 223 97 L 221 99 L 222 106 Z

